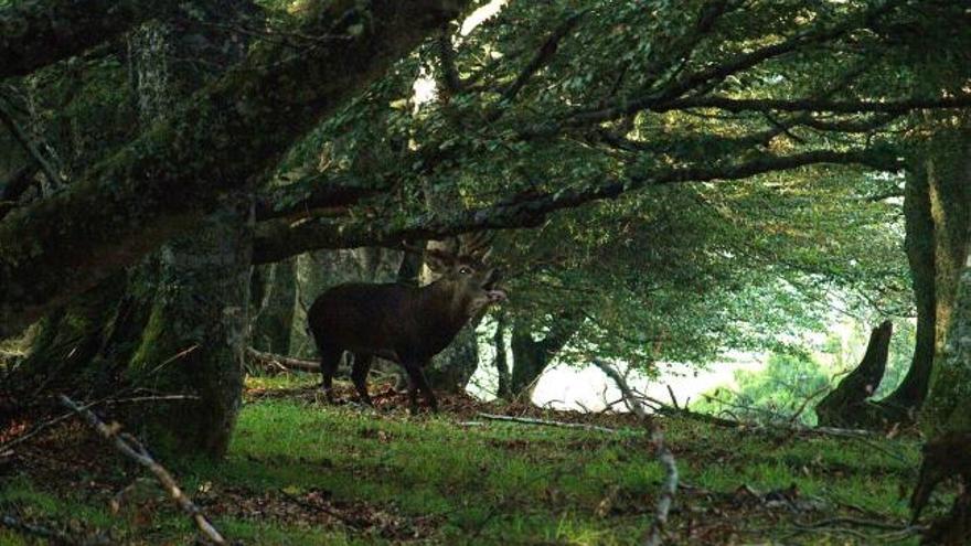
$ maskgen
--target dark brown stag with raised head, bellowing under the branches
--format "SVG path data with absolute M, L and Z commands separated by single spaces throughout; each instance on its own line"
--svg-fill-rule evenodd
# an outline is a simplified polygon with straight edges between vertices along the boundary
M 367 372 L 378 356 L 407 372 L 412 414 L 418 411 L 418 390 L 438 411 L 422 370 L 469 319 L 506 297 L 495 286 L 498 269 L 487 264 L 489 246 L 487 237 L 477 234 L 461 238 L 455 251 L 425 250 L 425 264 L 438 279 L 423 287 L 350 282 L 317 298 L 308 322 L 320 351 L 327 399 L 333 403 L 334 372 L 348 351 L 354 356 L 351 379 L 363 403 L 371 405 Z

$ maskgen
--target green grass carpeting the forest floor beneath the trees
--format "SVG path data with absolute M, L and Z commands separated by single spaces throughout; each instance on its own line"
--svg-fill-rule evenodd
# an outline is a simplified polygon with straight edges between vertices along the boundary
M 306 385 L 286 382 L 260 379 L 259 386 Z M 900 492 L 914 479 L 914 441 L 792 437 L 682 420 L 668 421 L 665 430 L 687 485 L 670 526 L 679 544 L 873 544 L 886 532 L 854 528 L 869 533 L 864 539 L 840 531 L 796 533 L 794 525 L 837 515 L 897 523 L 907 516 Z M 201 504 L 226 536 L 308 545 L 632 544 L 652 521 L 663 479 L 639 431 L 466 427 L 449 415 L 412 418 L 286 397 L 244 406 L 225 461 L 195 462 L 175 473 L 186 491 L 206 501 Z M 738 493 L 792 484 L 798 501 L 814 508 L 793 511 Z M 49 521 L 79 520 L 86 528 L 113 528 L 119 539 L 141 544 L 193 538 L 190 522 L 158 495 L 146 525 L 125 510 L 111 514 L 104 495 L 65 494 L 29 474 L 3 479 L 0 488 L 0 512 L 13 506 Z M 226 504 L 227 492 L 238 500 L 228 504 L 252 502 L 255 512 L 212 512 Z M 320 514 L 300 512 L 289 501 L 312 495 L 324 495 L 345 517 L 366 514 L 369 524 L 321 523 Z M 273 507 L 260 512 L 260 497 Z M 689 531 L 706 526 L 717 533 L 705 538 Z M 23 544 L 18 540 L 0 533 L 0 544 Z

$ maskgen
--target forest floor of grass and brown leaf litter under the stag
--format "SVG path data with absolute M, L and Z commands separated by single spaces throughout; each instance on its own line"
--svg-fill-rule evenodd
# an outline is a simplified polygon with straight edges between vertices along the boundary
M 630 415 L 446 397 L 436 416 L 372 385 L 377 410 L 328 406 L 317 376 L 247 381 L 225 461 L 161 461 L 242 544 L 636 544 L 663 480 Z M 342 393 L 349 394 L 343 387 Z M 530 415 L 616 433 L 489 421 Z M 917 544 L 900 531 L 915 438 L 836 438 L 664 419 L 681 473 L 669 544 Z M 0 430 L 0 446 L 30 430 Z M 6 459 L 4 459 L 6 457 Z M 193 544 L 150 474 L 78 419 L 0 453 L 0 517 L 74 539 Z M 946 510 L 938 500 L 932 512 Z M 0 545 L 44 544 L 0 525 Z

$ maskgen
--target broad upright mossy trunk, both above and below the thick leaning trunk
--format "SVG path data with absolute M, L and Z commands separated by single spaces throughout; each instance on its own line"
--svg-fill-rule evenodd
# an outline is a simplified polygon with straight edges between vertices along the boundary
M 221 54 L 232 51 L 221 36 L 215 40 L 224 42 L 215 47 Z M 164 24 L 142 26 L 131 44 L 130 68 L 138 75 L 135 92 L 146 126 L 206 77 L 172 69 L 173 52 L 188 50 L 215 65 L 199 51 L 206 44 L 202 36 L 182 41 Z M 57 366 L 54 376 L 73 378 L 90 394 L 140 388 L 185 395 L 190 399 L 141 406 L 124 420 L 154 449 L 221 457 L 242 396 L 252 251 L 252 192 L 227 195 L 192 236 L 172 239 L 131 268 L 127 282 L 103 282 L 50 317 L 28 372 L 36 376 Z M 72 344 L 83 350 L 58 358 Z

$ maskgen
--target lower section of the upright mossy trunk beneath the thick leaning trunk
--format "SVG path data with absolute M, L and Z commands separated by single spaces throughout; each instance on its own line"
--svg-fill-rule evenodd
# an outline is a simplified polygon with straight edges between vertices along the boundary
M 198 400 L 149 406 L 138 422 L 163 449 L 218 458 L 243 393 L 252 202 L 238 197 L 162 250 L 151 314 L 126 382 Z

